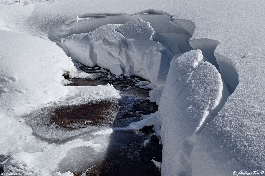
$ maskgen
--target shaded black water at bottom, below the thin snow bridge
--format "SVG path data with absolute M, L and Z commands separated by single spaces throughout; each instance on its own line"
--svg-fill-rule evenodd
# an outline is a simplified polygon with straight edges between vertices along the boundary
M 143 141 L 149 138 L 145 147 Z M 89 175 L 161 175 L 152 159 L 162 161 L 162 146 L 152 130 L 142 134 L 132 131 L 116 131 L 108 148 L 105 160 L 87 170 Z M 81 174 L 81 173 L 80 173 Z

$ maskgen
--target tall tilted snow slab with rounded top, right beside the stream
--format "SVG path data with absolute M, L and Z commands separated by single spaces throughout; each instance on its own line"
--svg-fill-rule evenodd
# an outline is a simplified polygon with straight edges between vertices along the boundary
M 223 89 L 220 73 L 203 61 L 201 50 L 174 56 L 159 102 L 162 175 L 191 175 L 189 147 L 222 96 L 228 97 Z

